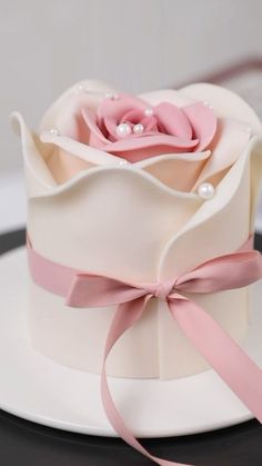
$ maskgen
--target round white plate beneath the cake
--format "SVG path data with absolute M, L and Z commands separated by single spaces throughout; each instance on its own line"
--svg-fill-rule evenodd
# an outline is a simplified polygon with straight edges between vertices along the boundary
M 61 366 L 33 350 L 27 331 L 24 248 L 0 259 L 0 408 L 64 430 L 115 436 L 100 400 L 100 376 Z M 262 284 L 252 286 L 244 348 L 262 365 Z M 125 423 L 139 437 L 195 434 L 253 416 L 213 370 L 178 380 L 110 377 Z

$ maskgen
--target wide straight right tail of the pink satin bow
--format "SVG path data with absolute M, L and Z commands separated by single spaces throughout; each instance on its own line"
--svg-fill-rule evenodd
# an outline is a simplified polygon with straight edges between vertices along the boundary
M 195 303 L 170 299 L 169 309 L 199 353 L 262 423 L 262 370 Z

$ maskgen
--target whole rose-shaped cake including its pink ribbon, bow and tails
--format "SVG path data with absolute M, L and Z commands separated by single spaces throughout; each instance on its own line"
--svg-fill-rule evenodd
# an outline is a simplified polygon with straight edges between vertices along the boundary
M 102 374 L 110 422 L 158 464 L 174 463 L 119 427 L 103 359 L 108 375 L 140 379 L 213 366 L 262 418 L 261 369 L 241 350 L 249 285 L 262 277 L 252 249 L 262 178 L 255 112 L 209 83 L 135 97 L 83 81 L 37 131 L 17 112 L 12 123 L 24 160 L 33 348 Z M 231 374 L 235 361 L 251 388 Z

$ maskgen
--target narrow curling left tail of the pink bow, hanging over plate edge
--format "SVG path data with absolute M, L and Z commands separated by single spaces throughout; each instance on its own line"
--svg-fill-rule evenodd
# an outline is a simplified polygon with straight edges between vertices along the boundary
M 149 459 L 151 459 L 152 462 L 157 463 L 160 466 L 170 466 L 170 465 L 182 466 L 181 463 L 173 463 L 168 459 L 162 459 L 162 458 L 151 455 L 142 446 L 142 444 L 140 444 L 137 440 L 137 438 L 128 428 L 121 415 L 117 410 L 113 398 L 109 390 L 109 385 L 108 385 L 108 379 L 107 379 L 105 363 L 107 363 L 109 353 L 111 351 L 112 347 L 118 341 L 118 339 L 121 337 L 121 335 L 128 328 L 132 327 L 132 325 L 134 325 L 135 321 L 138 321 L 142 317 L 145 305 L 150 298 L 151 298 L 151 295 L 147 295 L 144 297 L 137 298 L 130 303 L 119 305 L 113 316 L 113 320 L 109 329 L 105 348 L 104 348 L 104 355 L 103 355 L 103 365 L 102 365 L 102 371 L 101 371 L 101 398 L 102 398 L 103 408 L 104 408 L 104 412 L 107 414 L 109 422 L 111 423 L 114 430 L 119 434 L 119 436 L 124 442 L 127 442 L 127 444 L 129 444 L 134 449 L 137 449 L 142 455 L 147 456 Z M 185 465 L 185 466 L 190 466 L 190 465 Z

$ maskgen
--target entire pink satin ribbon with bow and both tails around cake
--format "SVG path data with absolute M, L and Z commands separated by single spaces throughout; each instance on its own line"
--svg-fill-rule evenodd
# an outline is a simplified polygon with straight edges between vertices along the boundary
M 262 423 L 262 370 L 205 310 L 184 296 L 184 293 L 209 294 L 241 288 L 262 278 L 262 256 L 251 247 L 252 238 L 236 252 L 215 257 L 165 282 L 131 284 L 52 262 L 28 242 L 29 267 L 37 285 L 66 297 L 67 305 L 72 307 L 118 305 L 103 355 L 102 404 L 119 436 L 158 465 L 181 466 L 181 463 L 151 455 L 124 424 L 108 386 L 108 355 L 121 335 L 141 318 L 149 300 L 162 299 L 198 351 Z

